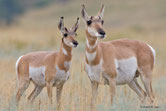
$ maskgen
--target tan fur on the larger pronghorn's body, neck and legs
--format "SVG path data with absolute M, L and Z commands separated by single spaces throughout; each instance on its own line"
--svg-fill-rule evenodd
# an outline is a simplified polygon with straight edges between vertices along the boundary
M 89 41 L 89 44 L 92 46 L 95 44 L 97 40 L 96 38 L 91 37 L 88 33 L 87 33 L 87 39 Z M 143 72 L 142 73 L 143 76 L 149 78 L 149 80 L 151 81 L 151 72 L 154 67 L 154 56 L 152 54 L 151 49 L 146 43 L 143 43 L 138 40 L 120 39 L 110 42 L 98 43 L 98 45 L 93 49 L 90 49 L 88 48 L 88 46 L 86 46 L 86 51 L 88 53 L 96 52 L 96 57 L 92 62 L 89 62 L 86 57 L 86 63 L 91 66 L 98 65 L 99 61 L 103 59 L 102 70 L 103 72 L 109 74 L 111 82 L 114 81 L 114 79 L 117 76 L 114 60 L 128 59 L 130 57 L 137 58 L 139 71 L 141 70 Z M 110 91 L 113 97 L 114 95 L 112 93 L 115 92 L 115 88 L 113 87 L 115 86 L 112 86 L 112 84 L 115 83 L 110 84 L 111 85 Z M 137 86 L 142 91 L 142 88 L 138 85 L 138 83 Z M 150 88 L 151 88 L 150 90 L 152 91 L 151 84 Z M 145 96 L 145 92 L 142 91 L 142 93 L 143 96 Z M 112 98 L 111 101 L 113 101 Z

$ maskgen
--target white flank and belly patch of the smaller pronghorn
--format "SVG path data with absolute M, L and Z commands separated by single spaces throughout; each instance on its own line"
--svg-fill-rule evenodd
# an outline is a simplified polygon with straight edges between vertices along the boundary
M 45 83 L 45 66 L 29 67 L 29 76 L 39 86 L 44 86 Z

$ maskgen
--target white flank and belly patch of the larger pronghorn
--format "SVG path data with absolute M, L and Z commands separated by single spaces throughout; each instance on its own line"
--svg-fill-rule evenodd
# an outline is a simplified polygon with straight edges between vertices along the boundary
M 129 59 L 115 60 L 117 77 L 116 84 L 126 84 L 134 79 L 137 66 L 137 59 L 131 57 Z

